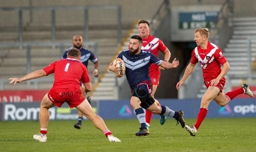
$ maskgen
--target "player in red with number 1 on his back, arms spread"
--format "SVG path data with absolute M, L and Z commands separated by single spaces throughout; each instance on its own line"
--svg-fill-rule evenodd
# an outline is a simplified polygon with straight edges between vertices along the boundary
M 47 126 L 49 122 L 49 108 L 57 106 L 61 107 L 67 102 L 70 108 L 82 111 L 82 113 L 90 119 L 94 126 L 101 130 L 110 142 L 120 142 L 114 137 L 111 131 L 105 125 L 104 120 L 98 116 L 91 108 L 87 99 L 83 95 L 79 83 L 85 86 L 85 92 L 91 90 L 90 78 L 87 68 L 81 63 L 81 53 L 78 49 L 72 48 L 67 53 L 67 59 L 62 59 L 51 63 L 44 69 L 31 72 L 21 78 L 9 78 L 10 84 L 23 82 L 30 79 L 43 77 L 54 73 L 54 83 L 50 91 L 43 97 L 40 105 L 40 134 L 35 134 L 34 139 L 40 142 L 47 140 Z

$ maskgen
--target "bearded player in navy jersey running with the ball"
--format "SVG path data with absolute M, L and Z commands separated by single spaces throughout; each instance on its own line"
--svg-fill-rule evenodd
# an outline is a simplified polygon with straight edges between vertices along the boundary
M 149 131 L 146 128 L 144 109 L 149 110 L 153 114 L 171 116 L 180 122 L 182 128 L 185 126 L 183 111 L 174 111 L 164 105 L 157 105 L 154 98 L 150 95 L 152 92 L 152 81 L 149 77 L 149 66 L 154 63 L 165 69 L 177 68 L 179 61 L 176 58 L 172 63 L 159 60 L 154 54 L 141 50 L 143 40 L 140 36 L 131 36 L 129 50 L 122 51 L 118 58 L 125 63 L 125 75 L 131 87 L 131 107 L 137 115 L 140 122 L 140 131 L 135 133 L 137 136 L 147 136 Z M 120 72 L 120 68 L 116 64 L 110 63 L 109 70 L 112 72 Z

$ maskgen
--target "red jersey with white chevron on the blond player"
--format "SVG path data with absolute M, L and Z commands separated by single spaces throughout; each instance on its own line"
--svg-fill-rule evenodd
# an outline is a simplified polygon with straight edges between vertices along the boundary
M 221 72 L 220 66 L 227 62 L 222 50 L 209 41 L 205 50 L 197 46 L 192 51 L 190 62 L 196 64 L 198 61 L 202 67 L 204 81 L 210 81 L 218 77 Z

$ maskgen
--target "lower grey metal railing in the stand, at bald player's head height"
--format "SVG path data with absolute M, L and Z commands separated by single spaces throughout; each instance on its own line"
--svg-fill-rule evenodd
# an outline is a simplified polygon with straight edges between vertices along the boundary
M 36 43 L 36 42 L 26 42 L 26 43 L 0 43 L 0 48 L 15 48 L 15 47 L 22 47 L 27 49 L 27 73 L 31 72 L 31 47 L 52 47 L 56 46 L 60 48 L 60 58 L 64 54 L 65 47 L 70 48 L 72 44 L 70 42 L 55 42 L 55 43 Z M 98 43 L 96 42 L 84 42 L 85 48 L 93 48 L 93 53 L 94 55 L 98 55 Z M 27 84 L 31 84 L 33 82 L 34 84 L 34 89 L 38 89 L 39 87 L 39 82 L 52 82 L 52 79 L 49 78 L 40 78 L 39 80 L 29 80 L 27 81 Z M 94 81 L 97 81 L 96 78 Z M 9 83 L 8 80 L 5 79 L 0 79 L 0 90 L 4 89 L 4 84 Z

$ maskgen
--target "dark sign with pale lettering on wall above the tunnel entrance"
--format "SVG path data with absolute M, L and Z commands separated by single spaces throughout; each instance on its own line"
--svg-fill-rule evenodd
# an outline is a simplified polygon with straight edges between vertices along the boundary
M 216 27 L 218 12 L 179 12 L 179 29 L 196 29 L 198 27 L 213 29 Z

